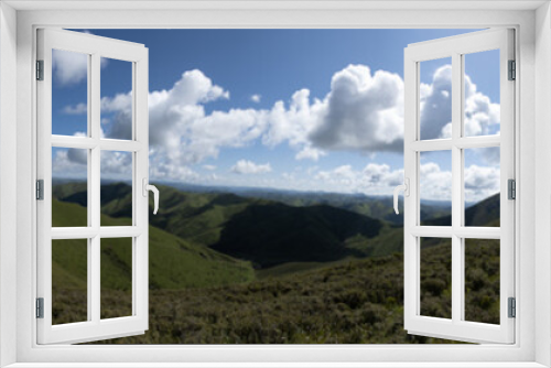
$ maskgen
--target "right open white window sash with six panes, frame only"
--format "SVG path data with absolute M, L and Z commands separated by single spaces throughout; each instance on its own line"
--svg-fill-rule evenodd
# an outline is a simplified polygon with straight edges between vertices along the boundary
M 515 59 L 511 29 L 484 30 L 451 37 L 410 44 L 404 51 L 404 177 L 409 196 L 404 198 L 404 327 L 408 333 L 464 342 L 515 342 L 515 320 L 508 316 L 508 299 L 515 297 L 515 204 L 508 199 L 508 180 L 515 180 L 515 83 L 508 80 L 508 62 Z M 498 50 L 500 90 L 500 133 L 466 137 L 464 131 L 465 55 Z M 452 136 L 421 140 L 420 73 L 425 61 L 450 57 L 452 63 Z M 500 227 L 465 226 L 464 150 L 500 149 Z M 452 224 L 423 226 L 420 219 L 420 155 L 430 151 L 450 152 L 452 159 Z M 452 315 L 437 318 L 421 315 L 421 239 L 451 240 Z M 499 324 L 465 320 L 465 239 L 499 241 Z

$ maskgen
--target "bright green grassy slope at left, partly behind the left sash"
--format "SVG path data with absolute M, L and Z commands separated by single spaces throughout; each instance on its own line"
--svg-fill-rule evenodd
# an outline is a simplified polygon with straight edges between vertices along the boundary
M 57 214 L 53 216 L 53 226 L 62 224 L 73 226 L 86 219 L 86 209 L 77 204 L 54 199 L 52 206 L 53 214 Z M 121 225 L 125 221 L 127 221 L 125 218 L 101 216 L 101 224 L 107 226 Z M 234 259 L 209 248 L 191 245 L 153 226 L 150 226 L 149 231 L 149 286 L 151 290 L 220 286 L 251 281 L 255 278 L 249 262 Z M 102 243 L 100 258 L 102 289 L 129 292 L 131 248 L 128 247 L 128 239 L 106 239 Z M 86 240 L 53 241 L 54 290 L 73 295 L 86 295 Z M 83 312 L 83 305 L 75 303 L 69 302 L 73 305 L 71 311 L 86 313 L 86 311 Z M 56 322 L 75 321 L 75 317 L 63 315 L 63 311 L 67 309 L 56 304 L 54 299 Z

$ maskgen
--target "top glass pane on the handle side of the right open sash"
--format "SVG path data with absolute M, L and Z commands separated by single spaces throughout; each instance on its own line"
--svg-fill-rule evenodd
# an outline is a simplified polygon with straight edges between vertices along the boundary
M 421 140 L 452 137 L 452 58 L 420 62 Z

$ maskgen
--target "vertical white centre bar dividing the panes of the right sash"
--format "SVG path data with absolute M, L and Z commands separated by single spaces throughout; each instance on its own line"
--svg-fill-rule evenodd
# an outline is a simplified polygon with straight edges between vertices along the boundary
M 452 228 L 462 225 L 462 150 L 456 143 L 462 131 L 462 66 L 461 54 L 452 54 Z M 462 239 L 452 236 L 452 321 L 457 323 L 463 315 L 463 257 Z

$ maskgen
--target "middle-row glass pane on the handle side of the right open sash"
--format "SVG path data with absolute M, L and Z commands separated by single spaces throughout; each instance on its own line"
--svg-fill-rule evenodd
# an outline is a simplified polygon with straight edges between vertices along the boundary
M 452 151 L 420 153 L 421 225 L 452 225 Z

